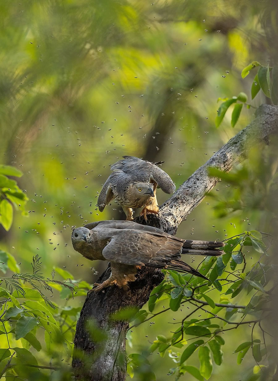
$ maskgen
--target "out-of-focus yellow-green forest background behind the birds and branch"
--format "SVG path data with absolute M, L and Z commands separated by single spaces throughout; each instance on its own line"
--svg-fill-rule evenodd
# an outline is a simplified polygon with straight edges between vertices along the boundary
M 74 226 L 124 219 L 114 202 L 103 213 L 95 206 L 109 165 L 123 155 L 163 160 L 179 187 L 244 128 L 268 100 L 259 93 L 250 101 L 254 75 L 243 80 L 240 73 L 253 60 L 272 65 L 277 58 L 275 1 L 30 0 L 2 2 L 0 14 L 0 162 L 23 171 L 19 186 L 29 197 L 27 216 L 18 212 L 9 232 L 0 229 L 1 247 L 22 271 L 39 254 L 45 276 L 59 266 L 93 283 L 106 264 L 82 258 L 70 237 Z M 215 128 L 217 99 L 240 91 L 253 107 L 234 129 L 230 110 Z M 255 147 L 238 184 L 219 183 L 178 236 L 270 231 L 276 165 L 271 149 Z M 158 190 L 157 198 L 168 196 Z M 84 299 L 65 303 L 82 306 Z M 167 336 L 172 313 L 134 329 L 127 352 L 142 353 L 158 333 Z M 248 329 L 225 335 L 224 363 L 212 381 L 243 379 L 254 366 L 250 354 L 241 366 L 232 354 Z M 157 380 L 175 366 L 168 354 L 149 361 Z M 198 366 L 197 356 L 191 361 Z

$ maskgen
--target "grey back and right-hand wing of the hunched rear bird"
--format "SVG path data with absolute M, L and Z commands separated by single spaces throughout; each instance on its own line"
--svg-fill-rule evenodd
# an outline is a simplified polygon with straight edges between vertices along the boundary
M 138 157 L 124 156 L 123 160 L 111 165 L 111 171 L 114 170 L 122 170 L 138 181 L 156 182 L 165 193 L 175 192 L 175 184 L 165 171 L 156 164 L 141 160 Z

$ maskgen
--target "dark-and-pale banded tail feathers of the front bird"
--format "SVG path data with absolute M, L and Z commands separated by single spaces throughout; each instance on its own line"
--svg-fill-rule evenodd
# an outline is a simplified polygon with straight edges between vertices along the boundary
M 219 241 L 186 240 L 183 243 L 182 254 L 219 256 L 224 254 L 219 250 L 225 243 Z

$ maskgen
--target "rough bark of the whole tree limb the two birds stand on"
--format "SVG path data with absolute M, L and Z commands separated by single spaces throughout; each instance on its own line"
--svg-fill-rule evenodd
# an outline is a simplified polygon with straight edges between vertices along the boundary
M 269 144 L 270 136 L 278 130 L 278 107 L 262 105 L 256 118 L 246 128 L 230 139 L 203 166 L 196 170 L 174 195 L 160 208 L 160 217 L 148 216 L 148 224 L 175 234 L 178 225 L 201 202 L 219 181 L 207 174 L 207 168 L 216 166 L 229 171 L 243 160 L 250 147 L 258 142 Z M 145 223 L 137 219 L 138 223 Z M 98 282 L 109 276 L 109 268 Z M 84 381 L 124 381 L 126 376 L 125 335 L 129 328 L 126 321 L 111 316 L 127 307 L 140 309 L 148 301 L 153 288 L 163 279 L 157 269 L 142 268 L 137 280 L 124 291 L 116 286 L 100 293 L 90 293 L 80 312 L 74 339 L 72 360 L 75 378 Z

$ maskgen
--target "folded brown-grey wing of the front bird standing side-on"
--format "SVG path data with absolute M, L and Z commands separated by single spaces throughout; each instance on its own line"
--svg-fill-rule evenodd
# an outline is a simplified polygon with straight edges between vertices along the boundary
M 158 268 L 168 268 L 204 277 L 180 260 L 183 242 L 161 234 L 127 231 L 114 235 L 103 249 L 108 261 Z M 206 279 L 206 277 L 204 277 Z

